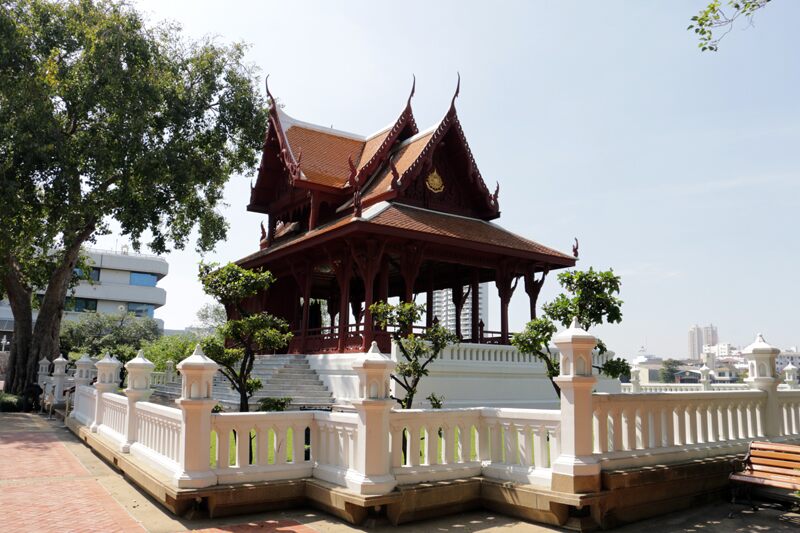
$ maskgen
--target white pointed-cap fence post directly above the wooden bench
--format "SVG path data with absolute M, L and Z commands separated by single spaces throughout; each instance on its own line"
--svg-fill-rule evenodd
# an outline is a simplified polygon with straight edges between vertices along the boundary
M 775 375 L 775 358 L 780 349 L 768 344 L 759 333 L 753 344 L 743 350 L 748 362 L 749 376 L 745 382 L 750 388 L 763 391 L 767 394 L 763 409 L 757 409 L 763 417 L 758 429 L 764 437 L 778 437 L 781 434 L 780 409 L 778 407 L 778 382 Z

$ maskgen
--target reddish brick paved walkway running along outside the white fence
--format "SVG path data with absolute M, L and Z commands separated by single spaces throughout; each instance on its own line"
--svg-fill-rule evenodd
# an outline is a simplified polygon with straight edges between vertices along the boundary
M 733 517 L 729 514 L 733 512 Z M 800 514 L 745 511 L 726 503 L 696 507 L 616 531 L 772 532 L 800 530 Z M 49 532 L 343 532 L 353 528 L 316 510 L 215 520 L 175 518 L 95 456 L 59 421 L 0 413 L 0 533 Z M 369 531 L 559 531 L 488 511 Z

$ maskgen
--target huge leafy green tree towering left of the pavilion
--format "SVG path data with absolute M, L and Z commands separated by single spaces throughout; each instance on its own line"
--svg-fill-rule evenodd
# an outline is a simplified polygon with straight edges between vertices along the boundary
M 216 208 L 228 177 L 255 165 L 266 106 L 243 46 L 189 42 L 122 1 L 5 2 L 0 42 L 5 387 L 19 392 L 58 353 L 81 247 L 112 220 L 155 253 L 194 229 L 202 251 L 224 237 Z

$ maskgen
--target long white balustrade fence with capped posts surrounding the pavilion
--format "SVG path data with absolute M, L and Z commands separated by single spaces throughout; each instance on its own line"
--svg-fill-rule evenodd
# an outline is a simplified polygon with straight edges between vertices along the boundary
M 95 386 L 78 386 L 71 416 L 169 473 L 178 487 L 314 477 L 364 495 L 477 475 L 549 488 L 563 476 L 599 480 L 601 470 L 800 438 L 800 391 L 778 390 L 769 361 L 759 362 L 748 390 L 592 393 L 593 338 L 572 328 L 556 342 L 560 410 L 393 409 L 394 363 L 371 352 L 352 364 L 355 412 L 212 413 L 217 366 L 197 351 L 179 365 L 180 408 L 146 401 L 152 364 L 143 357 L 127 366 L 138 388 L 113 393 L 118 363 L 106 358 L 97 363 Z M 774 356 L 759 342 L 754 359 Z

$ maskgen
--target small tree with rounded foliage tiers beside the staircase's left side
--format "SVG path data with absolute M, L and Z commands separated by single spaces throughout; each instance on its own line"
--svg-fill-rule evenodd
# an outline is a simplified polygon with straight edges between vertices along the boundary
M 243 305 L 247 298 L 261 294 L 275 281 L 270 272 L 247 270 L 234 263 L 217 268 L 200 264 L 203 290 L 228 310 L 228 320 L 218 335 L 206 337 L 205 354 L 220 365 L 220 372 L 239 393 L 239 410 L 250 410 L 250 397 L 261 388 L 261 380 L 251 378 L 256 354 L 274 353 L 292 339 L 285 320 L 269 313 L 251 313 Z

